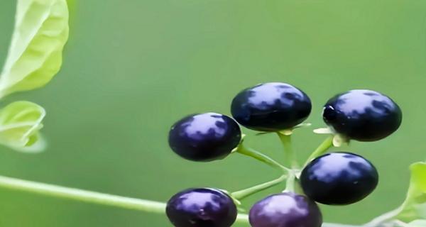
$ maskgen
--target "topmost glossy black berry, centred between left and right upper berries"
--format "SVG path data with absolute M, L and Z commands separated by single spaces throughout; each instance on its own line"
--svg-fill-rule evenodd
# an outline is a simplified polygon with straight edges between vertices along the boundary
M 256 131 L 280 131 L 305 121 L 312 109 L 310 98 L 290 84 L 258 84 L 239 92 L 231 104 L 232 116 Z

